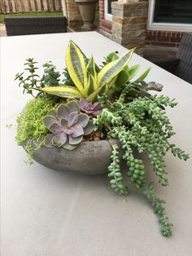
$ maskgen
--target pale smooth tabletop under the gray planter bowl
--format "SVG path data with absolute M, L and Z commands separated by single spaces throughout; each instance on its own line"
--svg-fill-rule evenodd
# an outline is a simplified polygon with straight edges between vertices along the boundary
M 2 109 L 2 256 L 190 256 L 192 255 L 191 159 L 166 157 L 170 185 L 156 192 L 167 201 L 166 212 L 173 236 L 164 238 L 145 198 L 135 190 L 117 196 L 105 175 L 73 176 L 28 166 L 23 148 L 16 145 L 15 117 L 29 97 L 14 82 L 24 60 L 39 64 L 52 60 L 59 71 L 65 67 L 65 50 L 72 38 L 101 64 L 103 55 L 125 51 L 98 33 L 59 33 L 1 38 Z M 131 64 L 141 70 L 151 66 L 148 81 L 164 84 L 164 94 L 178 106 L 167 110 L 177 143 L 192 156 L 192 85 L 133 55 Z M 14 124 L 6 129 L 6 124 Z M 82 160 L 83 161 L 83 160 Z M 151 175 L 154 178 L 153 175 Z

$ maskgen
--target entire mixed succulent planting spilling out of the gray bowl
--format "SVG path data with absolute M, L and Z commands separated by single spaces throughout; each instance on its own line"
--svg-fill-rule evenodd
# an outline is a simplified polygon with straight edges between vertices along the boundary
M 111 188 L 126 196 L 129 184 L 124 184 L 120 170 L 120 149 L 123 148 L 129 183 L 151 203 L 159 216 L 162 234 L 171 236 L 172 223 L 165 214 L 164 200 L 155 195 L 154 183 L 147 179 L 145 162 L 134 155 L 133 148 L 147 154 L 162 186 L 168 186 L 166 153 L 170 150 L 184 161 L 189 156 L 169 142 L 174 131 L 165 108 L 175 107 L 175 99 L 151 95 L 151 90 L 159 92 L 163 86 L 145 81 L 150 68 L 137 76 L 139 65 L 129 66 L 133 51 L 121 56 L 110 53 L 98 66 L 93 56 L 87 58 L 75 42 L 70 41 L 67 68 L 59 73 L 53 64 L 46 63 L 42 77 L 37 74 L 37 62 L 28 59 L 25 72 L 18 73 L 15 79 L 33 99 L 17 117 L 15 139 L 27 149 L 29 159 L 40 147 L 78 150 L 82 141 L 107 139 L 111 144 L 108 166 Z M 28 76 L 24 77 L 26 72 Z M 120 146 L 112 139 L 119 141 Z

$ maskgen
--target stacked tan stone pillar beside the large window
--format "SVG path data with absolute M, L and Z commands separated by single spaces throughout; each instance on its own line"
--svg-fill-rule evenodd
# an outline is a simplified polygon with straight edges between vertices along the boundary
M 111 3 L 112 39 L 127 48 L 142 48 L 146 38 L 148 2 L 121 0 Z

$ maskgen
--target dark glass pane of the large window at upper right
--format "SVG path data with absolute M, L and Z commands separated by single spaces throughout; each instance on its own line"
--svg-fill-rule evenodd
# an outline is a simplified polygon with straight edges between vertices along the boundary
M 192 24 L 192 1 L 156 0 L 154 22 Z

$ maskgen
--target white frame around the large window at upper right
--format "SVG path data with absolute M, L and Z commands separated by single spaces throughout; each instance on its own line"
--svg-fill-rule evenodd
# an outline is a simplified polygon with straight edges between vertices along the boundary
M 191 32 L 192 24 L 154 22 L 155 0 L 149 0 L 147 29 Z

